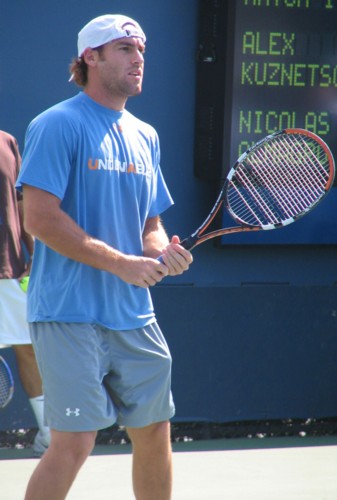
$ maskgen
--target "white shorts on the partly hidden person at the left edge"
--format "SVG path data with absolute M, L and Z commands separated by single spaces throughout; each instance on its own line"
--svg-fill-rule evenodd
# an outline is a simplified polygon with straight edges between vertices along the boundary
M 0 344 L 31 344 L 27 323 L 27 295 L 16 279 L 0 279 Z

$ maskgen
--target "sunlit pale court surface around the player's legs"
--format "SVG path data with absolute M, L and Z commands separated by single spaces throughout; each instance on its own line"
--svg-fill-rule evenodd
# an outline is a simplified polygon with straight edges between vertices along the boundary
M 179 442 L 172 500 L 336 500 L 337 437 Z M 22 500 L 38 460 L 0 449 L 0 498 Z M 129 445 L 99 445 L 67 499 L 132 500 Z M 48 500 L 48 499 L 46 499 Z

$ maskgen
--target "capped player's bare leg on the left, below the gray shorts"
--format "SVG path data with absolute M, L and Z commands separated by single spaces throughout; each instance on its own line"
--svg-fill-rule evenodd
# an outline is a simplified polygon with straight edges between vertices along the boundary
M 28 483 L 25 500 L 63 500 L 95 445 L 96 432 L 51 431 L 51 443 Z

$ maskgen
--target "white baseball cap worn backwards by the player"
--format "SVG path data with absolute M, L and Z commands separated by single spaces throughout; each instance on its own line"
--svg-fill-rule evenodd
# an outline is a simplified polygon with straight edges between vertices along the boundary
M 125 37 L 141 38 L 144 43 L 146 41 L 143 30 L 130 17 L 120 14 L 96 17 L 86 24 L 78 34 L 78 57 L 81 57 L 88 47 L 95 49 L 105 43 Z

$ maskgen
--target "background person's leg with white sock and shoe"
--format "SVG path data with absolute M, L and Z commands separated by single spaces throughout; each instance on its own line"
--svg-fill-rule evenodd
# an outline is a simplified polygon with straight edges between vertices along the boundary
M 33 449 L 34 453 L 40 456 L 49 445 L 50 432 L 49 428 L 44 424 L 42 382 L 36 363 L 34 349 L 32 344 L 13 345 L 13 349 L 16 356 L 20 380 L 28 395 L 38 424 L 39 432 L 35 437 Z

